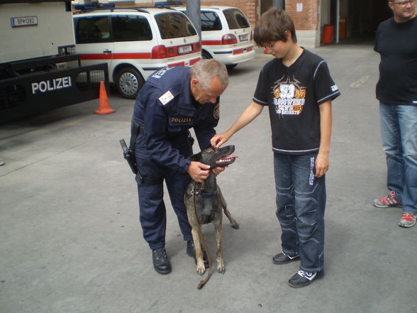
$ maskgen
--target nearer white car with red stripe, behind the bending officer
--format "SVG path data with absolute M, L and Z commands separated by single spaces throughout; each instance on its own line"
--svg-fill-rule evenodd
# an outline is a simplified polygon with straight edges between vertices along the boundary
M 109 81 L 135 99 L 152 72 L 201 60 L 196 29 L 173 9 L 89 9 L 74 13 L 76 51 L 82 65 L 107 62 Z

